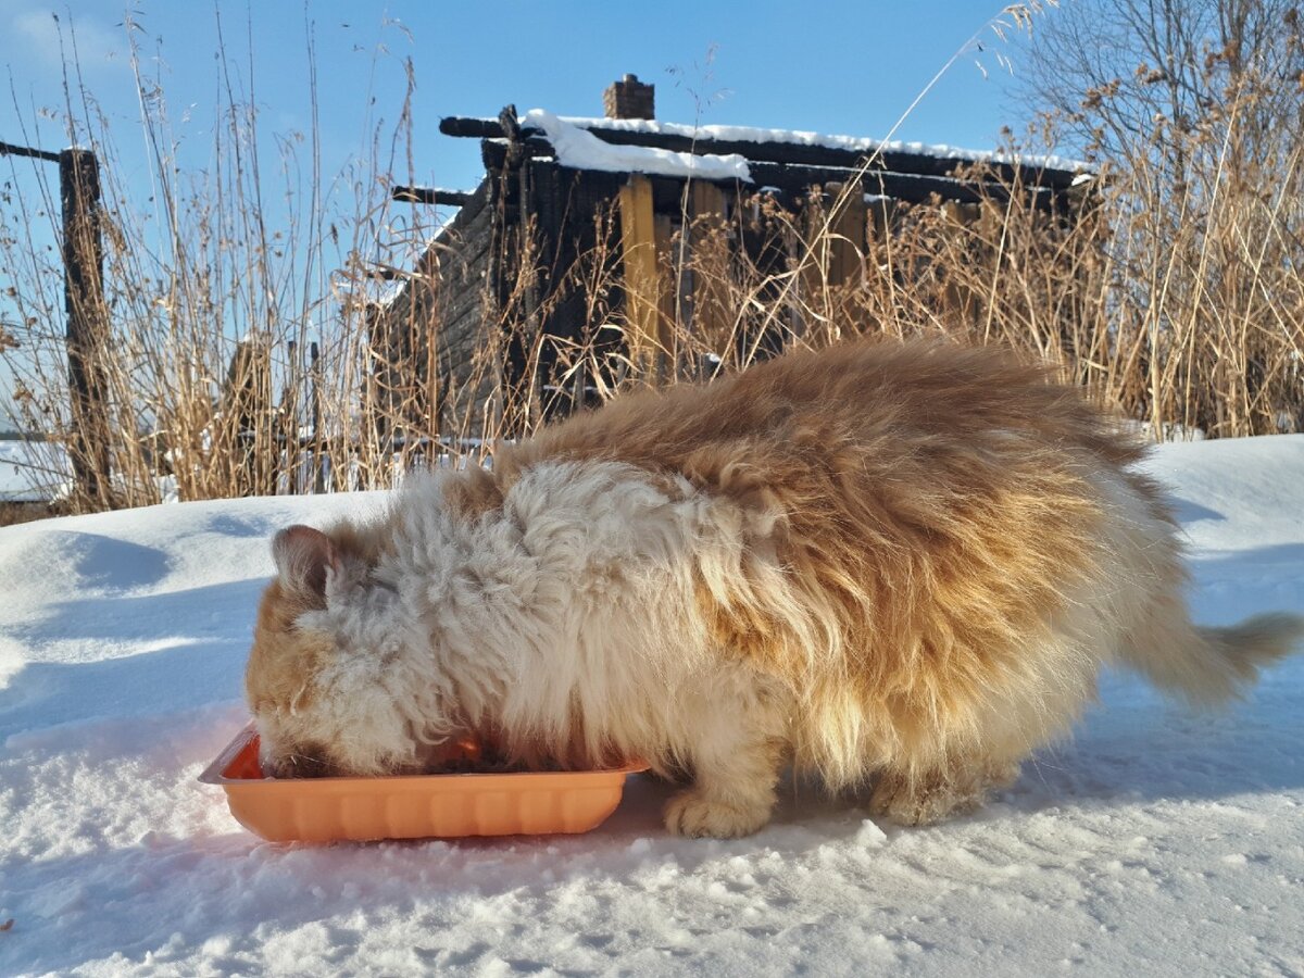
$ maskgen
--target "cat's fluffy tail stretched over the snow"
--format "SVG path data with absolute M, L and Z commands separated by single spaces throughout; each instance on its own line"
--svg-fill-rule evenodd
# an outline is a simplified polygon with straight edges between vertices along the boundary
M 1218 705 L 1252 686 L 1262 666 L 1297 651 L 1304 615 L 1271 613 L 1239 625 L 1191 625 L 1180 602 L 1154 609 L 1123 649 L 1127 665 L 1196 705 Z

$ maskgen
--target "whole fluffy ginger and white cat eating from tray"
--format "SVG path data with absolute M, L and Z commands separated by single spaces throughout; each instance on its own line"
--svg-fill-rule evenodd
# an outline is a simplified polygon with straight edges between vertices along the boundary
M 1222 702 L 1304 627 L 1192 626 L 1141 449 L 991 349 L 854 343 L 638 394 L 278 535 L 246 686 L 280 773 L 419 771 L 463 732 L 689 778 L 686 835 L 780 771 L 932 822 L 1009 784 L 1121 662 Z

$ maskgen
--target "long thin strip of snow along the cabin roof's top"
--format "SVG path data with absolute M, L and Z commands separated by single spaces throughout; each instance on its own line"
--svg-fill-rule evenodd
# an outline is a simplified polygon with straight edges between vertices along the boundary
M 570 125 L 580 130 L 608 129 L 626 133 L 648 133 L 664 136 L 681 136 L 690 140 L 719 140 L 722 142 L 755 142 L 786 143 L 790 146 L 819 146 L 831 150 L 849 150 L 854 153 L 909 153 L 915 156 L 932 156 L 936 159 L 962 159 L 974 163 L 1011 163 L 1030 167 L 1043 167 L 1047 170 L 1094 170 L 1094 166 L 1078 159 L 1056 155 L 1025 155 L 1021 153 L 998 153 L 992 150 L 966 150 L 958 146 L 930 145 L 923 142 L 902 142 L 897 140 L 883 141 L 859 136 L 829 136 L 823 133 L 805 132 L 798 129 L 759 129 L 746 125 L 683 125 L 679 123 L 662 123 L 656 119 L 584 119 L 580 116 L 552 116 L 541 110 L 532 110 L 520 119 L 523 126 L 544 129 L 546 126 L 539 121 L 540 116 L 556 119 L 557 123 Z M 552 134 L 548 133 L 549 141 Z M 596 137 L 595 137 L 596 138 Z M 605 145 L 605 143 L 604 143 Z M 673 154 L 687 155 L 687 154 Z M 589 167 L 596 168 L 596 167 Z M 679 175 L 679 173 L 675 173 Z M 699 173 L 700 176 L 700 173 Z

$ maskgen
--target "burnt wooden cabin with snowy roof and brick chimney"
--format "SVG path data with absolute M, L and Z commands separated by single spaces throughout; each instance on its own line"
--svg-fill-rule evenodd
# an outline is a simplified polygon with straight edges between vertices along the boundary
M 480 141 L 485 176 L 469 193 L 395 189 L 400 201 L 459 210 L 373 310 L 378 396 L 393 400 L 402 374 L 425 393 L 443 437 L 520 433 L 600 400 L 622 370 L 700 374 L 728 357 L 696 349 L 705 364 L 686 361 L 672 349 L 672 323 L 748 356 L 799 335 L 799 317 L 739 323 L 717 300 L 716 276 L 682 261 L 712 241 L 782 273 L 794 262 L 793 228 L 823 220 L 835 232 L 824 280 L 854 287 L 867 241 L 891 232 L 898 206 L 964 211 L 1017 183 L 1071 219 L 1082 183 L 1080 168 L 1046 160 L 659 123 L 653 96 L 626 76 L 605 93 L 604 119 L 519 116 L 509 106 L 497 119 L 442 120 L 443 134 Z

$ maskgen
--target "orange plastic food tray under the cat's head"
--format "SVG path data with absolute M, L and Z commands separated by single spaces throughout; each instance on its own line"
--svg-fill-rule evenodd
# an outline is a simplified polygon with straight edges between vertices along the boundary
M 200 781 L 222 785 L 236 822 L 257 836 L 333 842 L 588 832 L 615 811 L 626 776 L 645 769 L 265 778 L 250 724 Z

